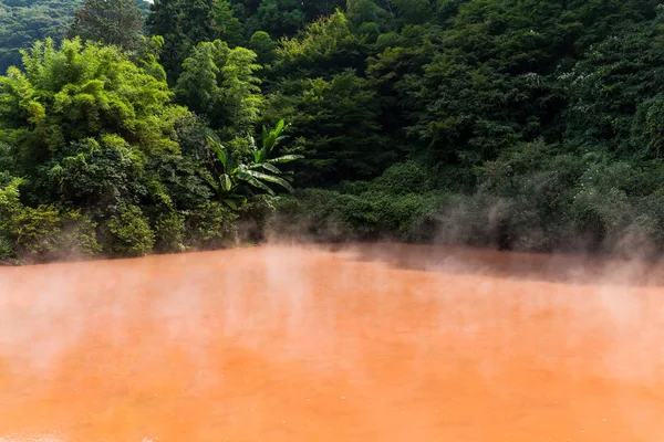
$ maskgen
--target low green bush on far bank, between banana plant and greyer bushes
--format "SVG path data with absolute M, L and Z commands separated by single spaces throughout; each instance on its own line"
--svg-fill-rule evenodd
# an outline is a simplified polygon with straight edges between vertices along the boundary
M 407 177 L 400 182 L 398 173 Z M 341 186 L 340 191 L 307 189 L 297 200 L 279 199 L 270 224 L 277 235 L 319 241 L 430 241 L 435 218 L 446 200 L 428 188 L 414 164 L 397 165 L 369 182 Z M 430 229 L 428 229 L 430 228 Z

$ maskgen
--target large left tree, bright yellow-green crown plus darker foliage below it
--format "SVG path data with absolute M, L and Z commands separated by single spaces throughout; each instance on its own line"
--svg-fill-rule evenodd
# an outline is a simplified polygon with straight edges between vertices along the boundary
M 135 210 L 125 215 L 124 208 L 143 212 L 141 206 L 147 204 L 155 220 L 159 211 L 178 210 L 168 191 L 162 191 L 166 185 L 160 177 L 146 169 L 153 158 L 187 162 L 180 158 L 176 125 L 190 113 L 169 104 L 163 76 L 138 67 L 117 46 L 83 45 L 79 40 L 65 40 L 60 49 L 52 41 L 35 43 L 23 64 L 24 73 L 12 67 L 0 77 L 0 143 L 9 146 L 6 155 L 13 158 L 13 171 L 25 177 L 24 202 L 32 210 L 25 212 L 27 225 L 41 217 L 61 229 L 58 210 L 81 209 L 102 232 L 110 232 L 102 238 L 107 251 L 118 252 L 128 241 L 122 232 L 146 232 L 143 221 L 128 220 Z M 190 173 L 180 182 L 204 186 L 197 183 L 196 171 Z M 44 229 L 44 235 L 51 231 Z M 141 250 L 152 250 L 151 238 L 145 233 Z

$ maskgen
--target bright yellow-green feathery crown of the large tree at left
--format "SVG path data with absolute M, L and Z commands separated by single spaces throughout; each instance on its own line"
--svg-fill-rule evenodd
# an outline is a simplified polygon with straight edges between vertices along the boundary
M 142 150 L 173 150 L 174 119 L 166 83 L 137 67 L 114 46 L 48 40 L 23 56 L 25 72 L 0 77 L 3 138 L 32 158 L 62 151 L 73 141 L 117 135 Z

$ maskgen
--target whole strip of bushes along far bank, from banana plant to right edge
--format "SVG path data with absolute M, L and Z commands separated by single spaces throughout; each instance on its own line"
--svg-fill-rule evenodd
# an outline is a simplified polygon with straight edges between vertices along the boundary
M 474 192 L 429 190 L 416 162 L 339 190 L 278 200 L 277 234 L 319 241 L 445 242 L 520 251 L 590 249 L 633 255 L 664 248 L 664 165 L 605 151 L 519 144 L 475 170 Z

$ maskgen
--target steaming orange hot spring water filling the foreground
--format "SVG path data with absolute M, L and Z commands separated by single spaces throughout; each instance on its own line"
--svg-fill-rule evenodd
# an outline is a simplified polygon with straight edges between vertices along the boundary
M 664 441 L 658 265 L 257 248 L 0 270 L 0 442 Z

